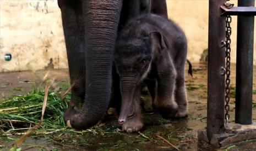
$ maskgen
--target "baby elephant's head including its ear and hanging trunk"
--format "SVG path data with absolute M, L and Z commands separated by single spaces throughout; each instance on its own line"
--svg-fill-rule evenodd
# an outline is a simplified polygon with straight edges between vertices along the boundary
M 147 77 L 157 54 L 165 47 L 159 32 L 150 32 L 148 36 L 126 34 L 117 40 L 114 61 L 120 76 L 122 106 L 118 122 L 123 124 L 134 114 L 136 91 Z M 115 80 L 115 79 L 114 79 Z

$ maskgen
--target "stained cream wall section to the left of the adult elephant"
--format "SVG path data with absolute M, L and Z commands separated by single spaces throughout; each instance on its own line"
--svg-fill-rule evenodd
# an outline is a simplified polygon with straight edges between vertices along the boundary
M 57 0 L 0 0 L 0 7 L 0 72 L 68 67 Z

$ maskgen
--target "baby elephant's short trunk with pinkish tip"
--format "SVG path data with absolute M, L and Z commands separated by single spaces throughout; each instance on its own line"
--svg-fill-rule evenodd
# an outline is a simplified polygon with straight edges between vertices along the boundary
M 121 125 L 126 122 L 128 114 L 132 111 L 135 87 L 136 82 L 134 78 L 121 78 L 122 106 L 118 119 L 118 123 Z

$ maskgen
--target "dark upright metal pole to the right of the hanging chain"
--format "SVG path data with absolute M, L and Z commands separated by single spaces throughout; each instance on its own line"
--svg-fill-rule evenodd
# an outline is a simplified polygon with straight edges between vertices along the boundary
M 238 7 L 254 7 L 254 0 L 239 0 Z M 236 114 L 239 124 L 252 124 L 254 16 L 237 17 Z

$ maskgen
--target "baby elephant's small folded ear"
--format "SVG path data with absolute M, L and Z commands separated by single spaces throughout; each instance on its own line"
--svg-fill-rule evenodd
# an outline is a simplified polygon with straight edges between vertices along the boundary
M 157 31 L 150 32 L 149 38 L 152 44 L 152 48 L 160 48 L 161 50 L 167 48 L 164 37 L 160 32 L 157 32 Z

